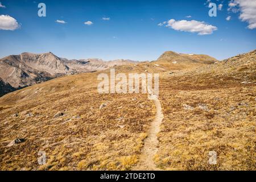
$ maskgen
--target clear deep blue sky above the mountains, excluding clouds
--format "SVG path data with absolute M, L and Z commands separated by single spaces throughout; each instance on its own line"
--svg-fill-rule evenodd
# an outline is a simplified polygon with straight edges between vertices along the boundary
M 51 51 L 68 59 L 155 60 L 164 51 L 175 51 L 202 53 L 222 60 L 256 48 L 256 28 L 247 27 L 254 17 L 242 21 L 242 5 L 237 5 L 236 13 L 228 10 L 230 2 L 247 0 L 212 0 L 217 6 L 223 5 L 216 17 L 208 15 L 206 1 L 42 0 L 47 16 L 39 17 L 39 1 L 0 0 L 0 15 L 9 15 L 19 24 L 13 31 L 0 30 L 0 57 Z M 226 20 L 228 16 L 230 20 Z M 168 23 L 158 26 L 170 19 L 176 23 L 205 22 L 217 30 L 198 35 L 166 27 Z M 93 24 L 84 24 L 87 21 Z

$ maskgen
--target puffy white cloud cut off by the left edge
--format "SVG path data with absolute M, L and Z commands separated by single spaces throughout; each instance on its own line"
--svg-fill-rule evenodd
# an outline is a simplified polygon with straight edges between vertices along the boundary
M 0 15 L 0 30 L 16 30 L 19 24 L 16 19 L 9 15 Z

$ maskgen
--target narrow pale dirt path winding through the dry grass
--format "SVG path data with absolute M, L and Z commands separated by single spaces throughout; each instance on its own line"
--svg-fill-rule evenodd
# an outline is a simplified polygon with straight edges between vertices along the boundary
M 150 130 L 148 131 L 148 137 L 144 140 L 144 146 L 142 148 L 142 154 L 137 166 L 134 167 L 135 171 L 158 171 L 154 162 L 154 155 L 158 151 L 158 137 L 157 134 L 160 131 L 160 125 L 163 121 L 163 113 L 161 103 L 158 97 L 155 95 L 148 96 L 148 99 L 153 100 L 156 106 L 156 115 L 154 121 L 151 123 Z

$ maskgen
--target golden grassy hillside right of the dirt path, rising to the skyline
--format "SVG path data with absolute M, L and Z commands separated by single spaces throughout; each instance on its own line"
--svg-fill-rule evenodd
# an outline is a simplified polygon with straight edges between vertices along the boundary
M 223 63 L 164 73 L 164 121 L 155 162 L 164 170 L 256 169 L 255 51 Z M 209 152 L 217 152 L 210 165 Z

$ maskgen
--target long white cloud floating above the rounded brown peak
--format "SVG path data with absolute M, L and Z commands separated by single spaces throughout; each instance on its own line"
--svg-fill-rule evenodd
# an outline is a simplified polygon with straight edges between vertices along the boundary
M 170 19 L 166 27 L 170 27 L 177 31 L 192 32 L 197 33 L 198 35 L 209 35 L 213 31 L 218 30 L 217 27 L 207 24 L 205 22 L 199 22 L 196 20 L 179 20 Z

